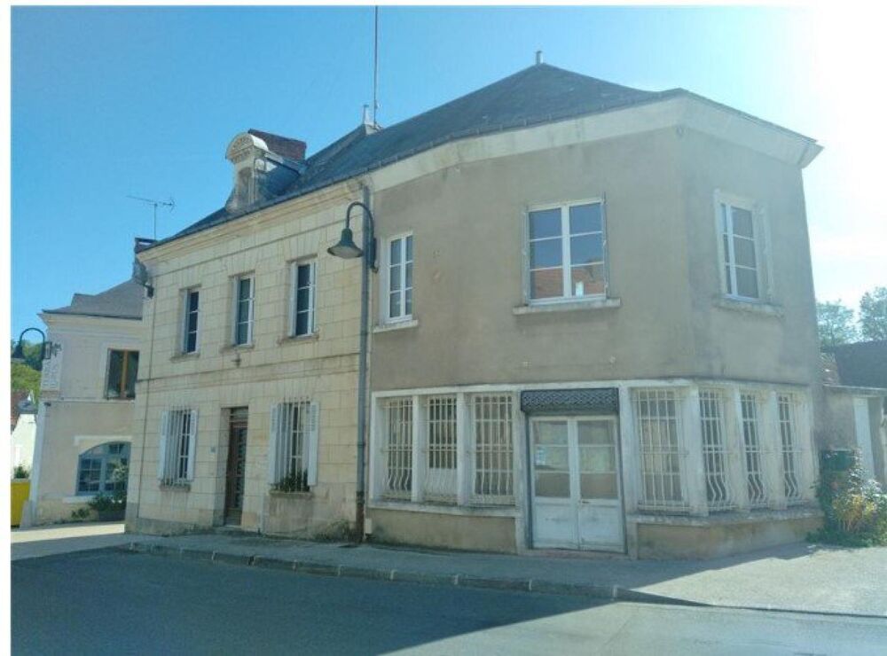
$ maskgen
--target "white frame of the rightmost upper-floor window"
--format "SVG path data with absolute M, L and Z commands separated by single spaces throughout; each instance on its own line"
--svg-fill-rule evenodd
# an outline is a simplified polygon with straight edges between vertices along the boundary
M 729 239 L 727 239 L 728 252 L 724 251 L 724 231 L 722 206 L 726 206 L 727 221 L 729 227 Z M 753 243 L 755 252 L 755 281 L 757 283 L 757 296 L 743 296 L 738 293 L 736 287 L 736 267 L 749 269 L 743 265 L 737 265 L 735 259 L 735 244 L 733 230 L 733 213 L 730 208 L 744 209 L 751 215 L 751 230 L 753 231 Z M 718 279 L 720 280 L 720 293 L 727 299 L 744 301 L 749 303 L 764 303 L 772 299 L 769 261 L 769 230 L 766 223 L 764 207 L 754 199 L 737 196 L 726 191 L 715 191 L 714 195 L 715 233 L 718 245 Z M 729 258 L 729 265 L 727 263 Z M 729 272 L 727 267 L 729 266 Z M 729 286 L 728 286 L 729 285 Z M 732 291 L 730 291 L 732 290 Z

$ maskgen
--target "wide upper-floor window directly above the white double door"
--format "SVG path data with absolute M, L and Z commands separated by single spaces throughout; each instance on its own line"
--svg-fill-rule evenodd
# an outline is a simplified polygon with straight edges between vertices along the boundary
M 603 203 L 530 211 L 530 300 L 607 293 Z

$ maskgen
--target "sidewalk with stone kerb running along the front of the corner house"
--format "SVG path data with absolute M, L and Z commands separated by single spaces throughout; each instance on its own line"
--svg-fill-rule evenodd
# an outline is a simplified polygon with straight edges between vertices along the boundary
M 258 535 L 130 535 L 131 551 L 388 581 L 887 618 L 887 548 L 798 543 L 710 560 L 422 551 Z

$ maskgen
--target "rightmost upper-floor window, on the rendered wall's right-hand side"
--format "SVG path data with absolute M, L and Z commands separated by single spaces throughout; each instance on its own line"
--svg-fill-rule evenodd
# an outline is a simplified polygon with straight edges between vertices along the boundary
M 759 299 L 759 236 L 750 203 L 718 200 L 723 292 L 742 299 Z

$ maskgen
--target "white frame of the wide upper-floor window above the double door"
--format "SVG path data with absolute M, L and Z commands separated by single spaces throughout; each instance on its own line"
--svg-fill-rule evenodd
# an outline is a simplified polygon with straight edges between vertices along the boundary
M 603 257 L 603 271 L 604 271 L 604 291 L 602 293 L 596 294 L 584 294 L 582 296 L 577 296 L 574 293 L 573 285 L 571 284 L 571 269 L 573 268 L 572 262 L 570 262 L 570 238 L 573 235 L 569 231 L 569 208 L 576 207 L 579 205 L 600 205 L 600 239 L 601 239 L 601 255 Z M 561 275 L 562 275 L 562 285 L 563 290 L 566 292 L 562 296 L 549 297 L 544 299 L 536 299 L 533 298 L 533 285 L 532 285 L 532 275 L 531 275 L 531 260 L 530 260 L 530 213 L 532 212 L 543 212 L 546 210 L 558 209 L 561 211 Z M 582 302 L 582 301 L 600 301 L 601 299 L 608 298 L 609 294 L 609 255 L 608 255 L 608 240 L 607 240 L 607 203 L 604 197 L 593 197 L 588 199 L 574 199 L 574 200 L 565 200 L 558 203 L 549 203 L 546 205 L 533 205 L 526 208 L 524 212 L 523 218 L 523 253 L 524 253 L 524 262 L 523 262 L 523 277 L 524 277 L 524 285 L 523 285 L 523 295 L 524 300 L 529 305 L 547 305 L 552 303 L 564 303 L 564 302 Z M 586 234 L 596 234 L 594 232 L 580 232 L 577 233 L 577 236 L 583 236 Z

